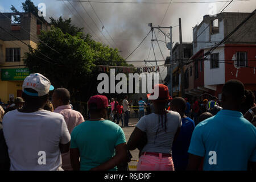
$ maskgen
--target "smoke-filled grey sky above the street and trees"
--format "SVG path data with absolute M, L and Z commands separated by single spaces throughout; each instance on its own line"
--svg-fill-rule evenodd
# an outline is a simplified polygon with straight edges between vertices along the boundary
M 11 5 L 14 5 L 18 11 L 22 11 L 22 2 L 25 0 L 0 0 L 0 11 L 10 12 Z M 78 0 L 76 0 L 78 1 Z M 96 3 L 91 2 L 92 7 L 87 0 L 84 2 L 67 2 L 57 0 L 32 0 L 35 6 L 39 3 L 46 5 L 46 19 L 49 17 L 59 18 L 63 16 L 71 18 L 76 26 L 84 27 L 85 32 L 93 35 L 94 40 L 109 45 L 113 48 L 118 48 L 123 58 L 126 58 L 134 49 L 141 43 L 147 33 L 150 31 L 148 23 L 153 26 L 172 26 L 172 41 L 175 45 L 179 42 L 179 18 L 181 18 L 181 29 L 183 42 L 192 42 L 192 27 L 200 24 L 203 16 L 210 14 L 216 7 L 216 13 L 220 13 L 228 1 L 216 2 L 221 0 L 97 0 L 108 2 L 167 2 L 159 4 L 129 4 L 129 3 Z M 90 0 L 96 1 L 96 0 Z M 213 2 L 212 3 L 187 3 L 187 2 Z M 224 12 L 244 12 L 250 13 L 256 8 L 256 0 L 237 1 L 234 0 Z M 172 2 L 171 4 L 169 4 Z M 179 2 L 179 3 L 175 3 Z M 180 3 L 183 2 L 183 3 Z M 186 2 L 186 3 L 184 3 Z M 216 2 L 216 3 L 214 3 Z M 170 6 L 169 6 L 170 5 Z M 213 6 L 212 6 L 213 5 Z M 87 11 L 86 14 L 85 10 Z M 76 12 L 77 11 L 77 12 Z M 78 14 L 77 14 L 78 13 Z M 86 23 L 85 23 L 86 22 Z M 102 29 L 102 23 L 104 28 Z M 87 25 L 86 25 L 87 24 Z M 164 29 L 165 32 L 170 32 L 169 29 Z M 162 33 L 155 30 L 158 40 L 164 40 Z M 155 35 L 153 37 L 155 39 Z M 167 40 L 169 42 L 169 40 Z M 163 57 L 169 56 L 170 51 L 165 46 L 165 43 L 153 43 L 156 60 L 163 60 Z M 143 60 L 155 60 L 154 52 L 151 47 L 151 34 L 147 36 L 139 48 L 127 59 L 128 63 L 135 66 L 145 65 Z M 150 53 L 150 54 L 149 54 Z M 140 60 L 141 62 L 132 62 Z M 159 62 L 162 65 L 164 62 Z M 155 65 L 155 63 L 147 63 L 147 65 Z M 162 78 L 166 76 L 166 68 L 160 67 Z

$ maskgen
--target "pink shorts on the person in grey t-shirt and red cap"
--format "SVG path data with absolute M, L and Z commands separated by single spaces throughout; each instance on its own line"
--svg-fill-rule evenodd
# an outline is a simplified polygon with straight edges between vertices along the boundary
M 142 154 L 137 164 L 137 171 L 174 171 L 172 157 L 163 158 L 159 156 Z

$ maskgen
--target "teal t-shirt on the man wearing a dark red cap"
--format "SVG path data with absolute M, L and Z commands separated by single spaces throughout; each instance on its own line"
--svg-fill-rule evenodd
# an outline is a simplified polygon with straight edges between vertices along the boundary
M 79 148 L 80 170 L 90 170 L 110 160 L 121 143 L 126 143 L 125 134 L 114 122 L 85 121 L 73 129 L 70 148 Z

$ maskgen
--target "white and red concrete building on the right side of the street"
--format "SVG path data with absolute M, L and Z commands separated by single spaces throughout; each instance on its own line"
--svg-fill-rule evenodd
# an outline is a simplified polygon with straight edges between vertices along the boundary
M 255 92 L 256 15 L 210 55 L 204 57 L 210 48 L 229 35 L 249 15 L 250 13 L 205 15 L 203 21 L 193 28 L 191 67 L 194 80 L 188 81 L 187 94 L 199 96 L 201 93 L 210 93 L 221 100 L 222 87 L 231 79 L 242 81 L 246 89 Z

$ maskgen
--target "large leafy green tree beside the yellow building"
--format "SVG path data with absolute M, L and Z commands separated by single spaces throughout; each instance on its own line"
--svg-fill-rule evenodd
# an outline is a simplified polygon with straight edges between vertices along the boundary
M 51 18 L 51 22 L 56 27 L 52 27 L 51 31 L 42 31 L 39 39 L 59 53 L 39 42 L 37 51 L 30 48 L 26 53 L 24 64 L 31 72 L 48 77 L 55 88 L 67 88 L 72 100 L 86 102 L 90 96 L 97 94 L 100 72 L 96 65 L 128 66 L 118 49 L 95 42 L 89 34 L 84 36 L 80 32 L 82 28 L 72 26 L 71 19 Z

